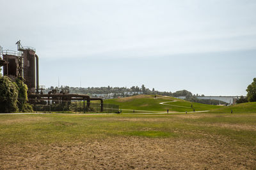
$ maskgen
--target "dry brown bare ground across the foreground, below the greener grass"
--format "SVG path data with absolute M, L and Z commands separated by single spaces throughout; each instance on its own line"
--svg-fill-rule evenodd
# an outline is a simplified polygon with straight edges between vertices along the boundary
M 0 169 L 256 169 L 256 153 L 216 136 L 0 144 L 0 160 Z

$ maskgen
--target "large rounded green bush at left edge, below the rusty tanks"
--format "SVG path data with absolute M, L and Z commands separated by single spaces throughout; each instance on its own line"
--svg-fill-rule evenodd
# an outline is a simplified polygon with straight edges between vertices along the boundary
M 0 113 L 18 111 L 18 87 L 8 76 L 0 77 Z

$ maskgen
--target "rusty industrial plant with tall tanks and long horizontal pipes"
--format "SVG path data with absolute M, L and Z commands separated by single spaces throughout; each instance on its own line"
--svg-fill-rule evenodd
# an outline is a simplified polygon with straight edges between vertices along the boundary
M 0 46 L 0 67 L 3 66 L 3 75 L 8 76 L 13 81 L 16 78 L 24 81 L 28 86 L 28 100 L 31 104 L 61 104 L 71 103 L 71 101 L 86 101 L 86 106 L 90 108 L 90 101 L 100 101 L 100 111 L 103 111 L 103 99 L 92 98 L 87 95 L 69 94 L 68 89 L 51 90 L 44 94 L 44 88 L 39 86 L 38 55 L 35 48 L 22 46 L 20 40 L 17 41 L 17 50 L 3 50 Z M 3 59 L 1 59 L 3 57 Z M 40 91 L 40 92 L 39 92 Z

